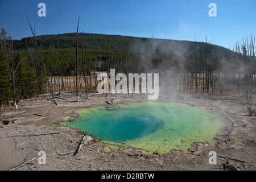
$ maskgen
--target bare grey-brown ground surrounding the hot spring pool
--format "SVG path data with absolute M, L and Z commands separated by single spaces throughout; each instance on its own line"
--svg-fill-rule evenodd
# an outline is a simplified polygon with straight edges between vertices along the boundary
M 58 96 L 63 97 L 64 96 Z M 75 97 L 72 97 L 75 100 Z M 67 97 L 67 100 L 72 100 Z M 113 97 L 115 98 L 115 96 Z M 60 125 L 64 117 L 76 119 L 76 109 L 99 105 L 115 106 L 147 100 L 147 96 L 119 96 L 113 105 L 105 102 L 101 95 L 81 97 L 80 102 L 67 102 L 57 99 L 58 105 L 50 104 L 46 98 L 38 101 L 24 101 L 18 110 L 8 110 L 0 117 L 0 170 L 224 170 L 226 159 L 217 157 L 217 164 L 209 164 L 209 151 L 219 156 L 238 159 L 229 163 L 241 171 L 254 171 L 256 168 L 256 117 L 248 117 L 247 106 L 255 107 L 254 102 L 246 102 L 240 96 L 222 96 L 211 100 L 206 94 L 187 94 L 183 97 L 159 97 L 160 101 L 182 102 L 195 106 L 205 106 L 216 110 L 232 123 L 225 135 L 214 144 L 196 142 L 184 153 L 172 150 L 163 156 L 144 155 L 130 146 L 119 151 L 106 150 L 105 145 L 87 135 L 81 151 L 75 156 L 77 146 L 84 133 L 77 129 Z M 110 98 L 109 98 L 110 101 Z M 38 115 L 35 115 L 38 114 Z M 40 116 L 39 116 L 40 115 Z M 2 121 L 13 121 L 3 125 Z M 44 134 L 44 135 L 41 135 Z M 88 144 L 88 142 L 90 143 Z M 46 164 L 38 156 L 46 152 Z M 34 160 L 32 160 L 34 159 Z M 31 161 L 30 161 L 31 160 Z M 38 162 L 39 160 L 39 162 Z M 30 161 L 30 162 L 29 162 Z

